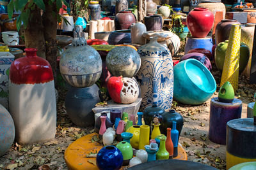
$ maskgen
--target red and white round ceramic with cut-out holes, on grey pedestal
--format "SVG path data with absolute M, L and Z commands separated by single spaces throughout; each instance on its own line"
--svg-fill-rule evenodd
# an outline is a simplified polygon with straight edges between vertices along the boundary
M 132 78 L 113 76 L 109 78 L 107 86 L 110 97 L 116 103 L 134 103 L 139 96 L 139 87 Z

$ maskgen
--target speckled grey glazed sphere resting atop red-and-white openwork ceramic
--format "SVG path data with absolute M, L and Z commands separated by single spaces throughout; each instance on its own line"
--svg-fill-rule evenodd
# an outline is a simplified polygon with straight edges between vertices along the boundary
M 117 46 L 106 57 L 106 66 L 112 76 L 132 78 L 139 71 L 140 65 L 140 55 L 129 46 Z

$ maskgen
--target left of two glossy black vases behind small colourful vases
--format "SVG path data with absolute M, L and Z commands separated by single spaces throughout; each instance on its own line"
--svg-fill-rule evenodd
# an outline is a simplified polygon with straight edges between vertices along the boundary
M 143 111 L 143 119 L 146 125 L 151 125 L 152 120 L 157 117 L 161 120 L 161 115 L 164 113 L 164 109 L 158 107 L 157 104 L 153 104 L 152 106 L 148 106 Z

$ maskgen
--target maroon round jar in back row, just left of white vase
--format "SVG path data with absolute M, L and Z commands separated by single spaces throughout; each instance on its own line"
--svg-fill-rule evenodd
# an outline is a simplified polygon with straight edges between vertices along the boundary
M 136 18 L 131 11 L 120 11 L 115 17 L 115 29 L 129 29 L 132 23 L 136 22 Z

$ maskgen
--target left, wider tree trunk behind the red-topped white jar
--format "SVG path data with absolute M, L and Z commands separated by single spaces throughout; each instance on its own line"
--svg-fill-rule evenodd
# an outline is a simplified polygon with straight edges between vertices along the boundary
M 24 34 L 26 48 L 37 48 L 36 54 L 45 59 L 45 39 L 41 10 L 35 6 L 35 10 L 31 10 L 30 16 L 31 19 Z

